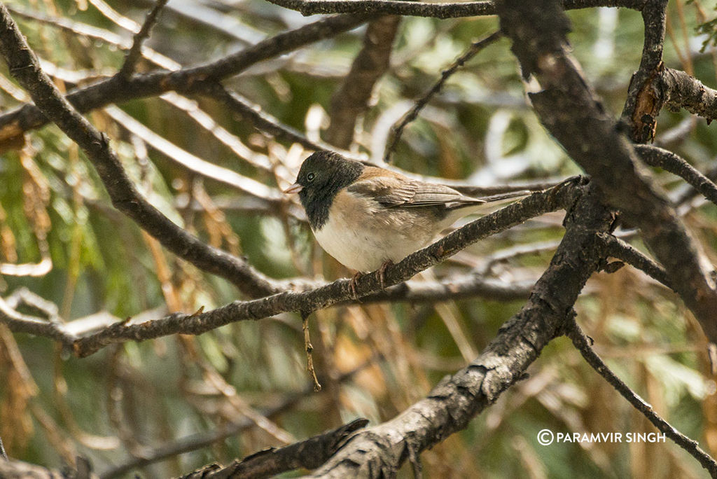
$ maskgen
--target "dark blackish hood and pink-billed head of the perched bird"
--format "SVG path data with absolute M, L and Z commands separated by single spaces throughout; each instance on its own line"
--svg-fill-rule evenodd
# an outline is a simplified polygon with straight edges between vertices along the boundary
M 328 219 L 328 209 L 339 190 L 356 181 L 364 165 L 338 153 L 317 151 L 306 158 L 296 183 L 288 191 L 298 191 L 309 224 L 316 230 Z

